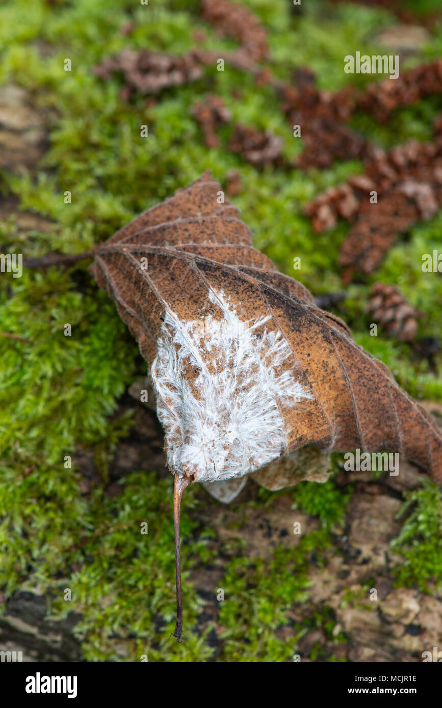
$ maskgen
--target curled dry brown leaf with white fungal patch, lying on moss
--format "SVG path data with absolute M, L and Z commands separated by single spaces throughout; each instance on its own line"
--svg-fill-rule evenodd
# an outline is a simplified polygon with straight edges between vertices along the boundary
M 149 362 L 171 471 L 220 482 L 314 445 L 399 452 L 442 481 L 431 417 L 253 249 L 220 192 L 206 172 L 120 229 L 91 266 Z

